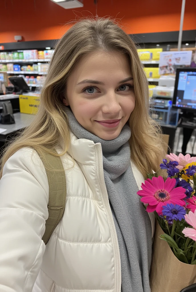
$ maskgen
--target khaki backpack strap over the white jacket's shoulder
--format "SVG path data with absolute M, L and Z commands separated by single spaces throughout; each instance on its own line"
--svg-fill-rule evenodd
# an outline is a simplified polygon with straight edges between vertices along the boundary
M 49 216 L 46 220 L 46 230 L 42 237 L 43 242 L 47 244 L 57 224 L 63 217 L 67 188 L 65 171 L 60 157 L 54 156 L 47 152 L 44 152 L 41 155 L 39 154 L 39 157 L 41 158 L 46 169 L 49 185 Z

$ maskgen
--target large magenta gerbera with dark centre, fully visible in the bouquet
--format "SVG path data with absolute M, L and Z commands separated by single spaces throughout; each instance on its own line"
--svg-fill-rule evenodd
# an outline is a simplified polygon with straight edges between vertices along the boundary
M 183 200 L 185 195 L 185 189 L 183 187 L 176 187 L 175 178 L 167 178 L 164 182 L 162 176 L 153 177 L 152 180 L 149 178 L 142 183 L 142 190 L 138 191 L 137 194 L 141 196 L 141 202 L 148 204 L 146 211 L 156 211 L 159 215 L 162 214 L 162 207 L 168 203 L 185 206 Z

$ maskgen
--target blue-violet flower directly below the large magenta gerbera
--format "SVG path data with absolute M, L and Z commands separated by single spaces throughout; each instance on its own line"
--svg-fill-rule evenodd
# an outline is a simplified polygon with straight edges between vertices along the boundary
M 172 220 L 181 221 L 182 219 L 184 219 L 186 211 L 185 208 L 180 205 L 167 204 L 166 206 L 163 206 L 162 214 L 166 216 L 166 220 L 170 222 Z

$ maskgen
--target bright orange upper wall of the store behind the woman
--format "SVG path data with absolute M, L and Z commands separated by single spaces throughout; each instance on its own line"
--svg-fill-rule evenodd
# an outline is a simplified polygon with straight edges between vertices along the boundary
M 84 7 L 64 9 L 50 0 L 0 0 L 0 43 L 58 39 L 76 15 L 96 15 L 94 0 Z M 127 33 L 179 30 L 181 0 L 98 0 L 98 16 L 121 19 Z M 183 30 L 196 29 L 196 1 L 186 0 Z

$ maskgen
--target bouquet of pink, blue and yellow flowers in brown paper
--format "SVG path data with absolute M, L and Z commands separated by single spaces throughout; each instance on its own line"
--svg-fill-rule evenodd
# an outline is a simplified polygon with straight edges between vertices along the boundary
M 166 158 L 160 164 L 162 175 L 160 170 L 148 175 L 137 192 L 157 221 L 152 292 L 180 292 L 196 283 L 196 157 L 171 153 Z

